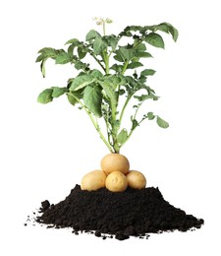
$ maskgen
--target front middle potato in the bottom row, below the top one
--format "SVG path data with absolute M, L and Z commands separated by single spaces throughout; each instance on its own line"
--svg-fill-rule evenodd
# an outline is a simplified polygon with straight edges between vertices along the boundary
M 105 185 L 112 192 L 123 192 L 128 187 L 128 179 L 121 171 L 113 171 L 107 176 Z

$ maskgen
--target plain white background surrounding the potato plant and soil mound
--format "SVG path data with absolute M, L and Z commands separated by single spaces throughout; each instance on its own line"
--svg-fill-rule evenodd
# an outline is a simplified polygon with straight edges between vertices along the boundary
M 8 255 L 220 255 L 220 11 L 219 1 L 28 1 L 0 4 L 0 254 Z M 146 121 L 125 146 L 148 186 L 158 186 L 176 207 L 205 220 L 194 232 L 152 234 L 120 242 L 70 230 L 24 226 L 49 199 L 63 200 L 83 174 L 99 168 L 107 154 L 87 116 L 64 98 L 41 105 L 45 88 L 65 86 L 70 65 L 47 63 L 46 78 L 35 63 L 45 46 L 62 48 L 73 37 L 100 30 L 94 16 L 109 17 L 107 32 L 128 25 L 173 24 L 177 43 L 165 34 L 166 49 L 146 62 L 157 71 L 149 80 L 160 100 L 153 110 L 170 123 L 162 130 Z

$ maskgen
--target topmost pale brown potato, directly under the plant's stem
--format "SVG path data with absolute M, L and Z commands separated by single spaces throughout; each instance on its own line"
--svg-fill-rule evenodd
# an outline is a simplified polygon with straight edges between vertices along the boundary
M 113 171 L 120 171 L 126 174 L 130 168 L 130 162 L 121 154 L 111 153 L 103 157 L 100 162 L 100 166 L 107 174 Z

